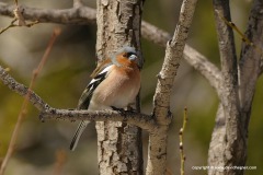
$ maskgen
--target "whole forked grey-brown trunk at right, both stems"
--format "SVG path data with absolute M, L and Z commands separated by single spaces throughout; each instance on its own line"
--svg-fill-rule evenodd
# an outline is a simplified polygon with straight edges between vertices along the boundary
M 250 13 L 247 37 L 253 43 L 243 42 L 238 65 L 232 30 L 221 16 L 230 19 L 229 2 L 214 0 L 218 42 L 221 59 L 222 81 L 219 89 L 219 105 L 216 126 L 213 131 L 208 165 L 215 167 L 233 167 L 245 165 L 248 126 L 255 83 L 261 72 L 262 50 L 262 2 L 255 0 Z M 239 71 L 238 71 L 239 66 Z M 210 168 L 209 175 L 241 175 L 243 170 Z

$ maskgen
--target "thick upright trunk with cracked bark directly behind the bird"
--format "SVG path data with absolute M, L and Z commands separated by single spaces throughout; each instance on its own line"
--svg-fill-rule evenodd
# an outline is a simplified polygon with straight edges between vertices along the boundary
M 140 50 L 141 0 L 98 0 L 99 63 L 124 45 Z M 142 62 L 142 60 L 141 60 Z M 96 122 L 100 174 L 142 174 L 141 130 L 125 122 Z

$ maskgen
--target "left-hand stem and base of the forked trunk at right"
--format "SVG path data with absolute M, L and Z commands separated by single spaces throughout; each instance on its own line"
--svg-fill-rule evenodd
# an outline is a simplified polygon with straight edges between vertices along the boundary
M 241 127 L 242 119 L 238 94 L 238 63 L 233 42 L 233 32 L 231 27 L 228 26 L 221 19 L 221 16 L 224 16 L 227 21 L 231 21 L 229 1 L 214 0 L 213 2 L 222 73 L 222 80 L 220 82 L 221 86 L 219 90 L 222 114 L 218 113 L 220 114 L 218 117 L 224 115 L 225 124 L 222 122 L 224 126 L 215 126 L 209 148 L 208 164 L 210 166 L 238 166 L 244 164 L 247 145 L 244 130 Z M 218 112 L 219 110 L 220 109 L 218 109 Z M 218 125 L 218 122 L 216 125 Z M 220 138 L 224 138 L 224 147 L 222 149 L 218 150 L 216 143 L 214 142 L 217 142 L 217 140 L 220 140 Z M 214 170 L 209 170 L 208 174 L 242 174 L 242 171 L 229 168 L 222 172 L 216 172 Z

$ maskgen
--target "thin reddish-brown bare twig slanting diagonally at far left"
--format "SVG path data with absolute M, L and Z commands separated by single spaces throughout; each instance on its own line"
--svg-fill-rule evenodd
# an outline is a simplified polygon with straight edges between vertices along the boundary
M 47 59 L 47 56 L 49 55 L 50 52 L 50 48 L 53 47 L 53 44 L 55 42 L 55 39 L 57 38 L 57 36 L 59 35 L 59 30 L 54 30 L 54 33 L 53 33 L 53 36 L 50 38 L 50 42 L 47 46 L 47 49 L 37 67 L 37 69 L 35 69 L 32 73 L 32 80 L 31 80 L 31 83 L 30 83 L 30 88 L 28 88 L 28 91 L 26 93 L 26 96 L 23 101 L 23 104 L 22 104 L 22 107 L 21 107 L 21 110 L 20 110 L 20 114 L 19 114 L 19 117 L 18 117 L 18 121 L 15 124 L 15 127 L 14 127 L 14 130 L 13 130 L 13 133 L 12 133 L 12 137 L 11 137 L 11 140 L 10 140 L 10 143 L 9 143 L 9 148 L 8 148 L 8 151 L 7 151 L 7 155 L 4 156 L 3 159 L 3 162 L 1 164 L 1 168 L 0 168 L 0 175 L 3 175 L 4 174 L 4 171 L 7 168 L 7 165 L 8 165 L 8 162 L 10 160 L 10 158 L 12 156 L 13 154 L 13 151 L 14 151 L 14 147 L 15 147 L 15 142 L 18 140 L 18 136 L 19 136 L 19 131 L 20 131 L 20 128 L 21 128 L 21 125 L 22 125 L 22 120 L 26 114 L 26 108 L 27 108 L 27 105 L 28 105 L 28 101 L 30 101 L 30 96 L 31 96 L 31 90 L 33 90 L 34 88 L 34 83 L 35 83 L 35 80 L 38 75 L 38 73 L 41 72 L 46 59 Z

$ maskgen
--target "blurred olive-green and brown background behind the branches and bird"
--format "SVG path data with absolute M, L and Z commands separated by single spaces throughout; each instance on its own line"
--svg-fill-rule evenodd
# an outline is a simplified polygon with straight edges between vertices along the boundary
M 0 0 L 0 2 L 13 3 L 12 0 Z M 19 3 L 46 9 L 72 7 L 71 0 L 23 0 Z M 84 0 L 84 3 L 95 8 L 95 0 Z M 178 21 L 180 4 L 179 0 L 148 0 L 145 3 L 142 19 L 172 34 Z M 250 0 L 231 0 L 232 21 L 243 32 L 250 8 Z M 10 18 L 0 16 L 0 27 L 9 25 L 10 22 Z M 62 33 L 52 49 L 34 91 L 53 107 L 75 108 L 90 81 L 90 73 L 95 68 L 95 25 L 37 24 L 30 28 L 11 28 L 0 35 L 0 65 L 10 68 L 10 74 L 19 82 L 28 85 L 32 71 L 39 62 L 53 30 L 57 26 L 62 30 Z M 237 34 L 236 42 L 239 56 L 241 38 Z M 198 1 L 187 44 L 220 67 L 211 1 Z M 157 83 L 156 75 L 163 61 L 164 48 L 145 39 L 141 40 L 141 45 L 146 59 L 141 72 L 142 113 L 150 114 Z M 262 85 L 263 79 L 261 78 L 252 107 L 247 162 L 248 166 L 256 166 L 258 170 L 247 171 L 247 175 L 263 174 Z M 7 153 L 22 102 L 21 96 L 0 83 L 0 160 Z M 168 170 L 171 174 L 180 173 L 179 129 L 182 126 L 185 106 L 188 109 L 188 122 L 184 135 L 185 174 L 207 174 L 205 171 L 193 171 L 192 166 L 207 165 L 207 150 L 217 105 L 218 98 L 214 89 L 198 72 L 182 60 L 171 95 L 171 109 L 174 115 L 168 148 Z M 8 164 L 5 174 L 56 174 L 58 167 L 61 167 L 64 175 L 98 174 L 94 124 L 88 127 L 75 152 L 68 149 L 77 126 L 78 122 L 66 120 L 41 122 L 38 112 L 30 105 L 20 130 L 15 153 Z M 144 133 L 145 154 L 147 141 L 148 136 Z

